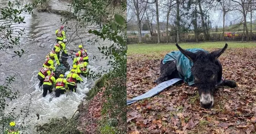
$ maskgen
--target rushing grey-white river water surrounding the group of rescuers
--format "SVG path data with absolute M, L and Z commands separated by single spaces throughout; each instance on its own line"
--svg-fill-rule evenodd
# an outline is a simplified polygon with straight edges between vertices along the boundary
M 3 7 L 3 5 L 7 5 L 7 3 L 8 0 L 1 0 L 0 6 Z M 67 5 L 67 3 L 64 3 L 64 5 Z M 53 8 L 58 6 L 58 4 L 55 4 Z M 26 29 L 26 34 L 21 37 L 20 41 L 23 45 L 8 50 L 8 52 L 13 53 L 14 50 L 24 49 L 28 51 L 28 53 L 24 54 L 21 58 L 18 56 L 12 58 L 10 54 L 4 52 L 0 53 L 0 61 L 3 64 L 0 68 L 1 79 L 4 80 L 5 77 L 15 74 L 16 81 L 12 84 L 12 87 L 14 90 L 20 91 L 19 97 L 16 100 L 8 101 L 7 103 L 9 103 L 10 107 L 17 106 L 17 111 L 19 111 L 20 108 L 29 105 L 29 98 L 32 96 L 29 108 L 30 115 L 25 119 L 25 121 L 28 121 L 32 116 L 31 124 L 45 123 L 52 117 L 70 117 L 73 115 L 74 111 L 76 111 L 85 93 L 95 84 L 95 81 L 87 80 L 87 78 L 82 77 L 85 82 L 78 84 L 76 93 L 66 93 L 56 98 L 53 92 L 51 94 L 48 93 L 47 96 L 43 98 L 43 90 L 38 87 L 39 80 L 37 73 L 43 65 L 46 54 L 53 48 L 53 44 L 56 43 L 55 30 L 59 29 L 61 26 L 61 16 L 37 11 L 33 11 L 32 15 L 23 15 L 25 16 L 26 23 L 13 25 L 13 27 L 17 27 L 18 29 Z M 68 27 L 70 27 L 71 30 L 67 30 L 66 36 L 67 39 L 70 39 L 71 34 L 75 32 L 74 22 L 68 23 Z M 78 35 L 81 37 L 89 55 L 90 62 L 88 68 L 96 72 L 99 71 L 100 66 L 108 69 L 107 60 L 99 60 L 103 55 L 97 49 L 98 46 L 85 44 L 87 40 L 97 38 L 95 35 L 87 32 L 89 29 L 97 29 L 97 27 L 88 26 L 87 29 L 78 31 Z M 68 49 L 77 49 L 78 45 L 81 44 L 80 38 L 75 37 L 74 34 L 71 38 L 73 41 L 67 44 Z M 110 42 L 100 41 L 100 44 L 108 45 Z M 98 60 L 93 59 L 93 56 L 96 56 Z M 40 115 L 39 120 L 37 120 L 36 117 L 37 113 Z M 20 119 L 17 119 L 17 122 L 21 120 L 23 120 L 22 116 Z M 29 132 L 32 133 L 32 131 L 35 131 L 33 127 Z

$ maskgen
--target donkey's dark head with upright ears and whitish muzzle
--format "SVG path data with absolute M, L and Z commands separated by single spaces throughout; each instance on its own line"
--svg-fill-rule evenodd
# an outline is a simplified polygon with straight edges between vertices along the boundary
M 216 64 L 217 58 L 227 49 L 228 44 L 225 44 L 223 49 L 211 53 L 203 51 L 193 53 L 180 48 L 178 44 L 176 46 L 181 53 L 193 62 L 191 71 L 194 76 L 195 85 L 198 88 L 201 106 L 211 108 L 213 106 L 215 85 L 220 79 L 218 74 L 221 71 L 220 66 Z

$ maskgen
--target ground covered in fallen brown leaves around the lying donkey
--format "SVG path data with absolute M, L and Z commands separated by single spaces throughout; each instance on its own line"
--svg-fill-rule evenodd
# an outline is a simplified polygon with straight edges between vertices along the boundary
M 128 56 L 128 99 L 156 86 L 153 81 L 165 54 Z M 238 87 L 219 86 L 212 109 L 201 108 L 197 89 L 183 82 L 129 105 L 127 133 L 256 134 L 256 48 L 227 49 L 219 60 L 223 77 L 235 80 Z

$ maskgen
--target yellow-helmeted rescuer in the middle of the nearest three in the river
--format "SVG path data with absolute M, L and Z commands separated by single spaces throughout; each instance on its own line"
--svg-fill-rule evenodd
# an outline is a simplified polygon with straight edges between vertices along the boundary
M 59 78 L 56 80 L 55 84 L 55 96 L 60 97 L 60 94 L 66 93 L 66 89 L 68 88 L 68 82 L 64 78 L 63 74 L 60 74 Z

